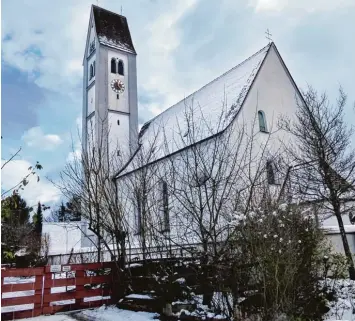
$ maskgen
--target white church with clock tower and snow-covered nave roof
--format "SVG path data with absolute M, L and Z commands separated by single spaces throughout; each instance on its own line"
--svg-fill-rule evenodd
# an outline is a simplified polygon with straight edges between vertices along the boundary
M 236 212 L 237 206 L 206 190 L 221 171 L 231 177 L 233 166 L 254 164 L 249 170 L 256 175 L 261 162 L 266 183 L 272 190 L 280 188 L 275 155 L 290 138 L 277 130 L 277 121 L 295 115 L 300 92 L 271 42 L 138 132 L 137 54 L 127 19 L 93 5 L 83 59 L 82 138 L 84 146 L 90 139 L 93 145 L 104 142 L 110 155 L 122 158 L 112 175 L 117 198 L 124 199 L 130 246 L 171 249 L 200 243 L 201 224 L 211 226 L 211 221 L 198 213 L 193 219 L 195 205 L 213 212 L 214 232 L 223 237 L 226 213 Z M 219 154 L 212 156 L 217 148 Z M 214 160 L 223 153 L 232 161 L 216 166 Z M 197 165 L 196 158 L 201 158 Z M 238 174 L 238 182 L 250 177 L 245 171 Z M 149 175 L 154 178 L 146 184 Z M 225 180 L 224 186 L 235 192 L 239 183 Z M 190 204 L 195 198 L 203 204 Z M 216 201 L 210 199 L 216 198 L 222 205 L 211 210 Z

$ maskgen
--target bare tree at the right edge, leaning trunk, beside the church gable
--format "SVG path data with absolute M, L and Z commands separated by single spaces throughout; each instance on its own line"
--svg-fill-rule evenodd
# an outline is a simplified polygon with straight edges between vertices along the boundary
M 318 202 L 338 221 L 349 274 L 355 267 L 346 237 L 342 215 L 355 201 L 355 152 L 351 149 L 353 131 L 344 121 L 346 95 L 339 90 L 335 105 L 325 93 L 309 87 L 298 102 L 296 119 L 282 119 L 280 126 L 292 133 L 294 142 L 288 153 L 295 164 L 289 171 L 294 192 L 307 202 Z M 291 167 L 290 167 L 291 169 Z

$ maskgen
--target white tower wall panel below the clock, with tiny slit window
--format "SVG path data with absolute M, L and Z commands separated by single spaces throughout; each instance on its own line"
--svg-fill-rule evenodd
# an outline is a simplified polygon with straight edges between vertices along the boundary
M 129 155 L 129 116 L 119 113 L 109 112 L 109 155 L 118 149 L 120 157 Z

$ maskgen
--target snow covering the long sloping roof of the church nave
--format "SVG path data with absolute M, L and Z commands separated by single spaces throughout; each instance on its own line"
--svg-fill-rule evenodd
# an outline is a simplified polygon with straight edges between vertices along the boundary
M 194 120 L 194 142 L 207 139 L 226 129 L 238 114 L 250 86 L 271 47 L 268 44 L 239 65 L 214 79 L 190 96 L 171 106 L 160 115 L 145 123 L 139 133 L 141 148 L 154 147 L 154 160 L 161 159 L 189 145 L 183 141 L 188 136 L 186 116 Z M 223 119 L 221 121 L 221 113 Z M 192 143 L 194 143 L 192 142 Z M 132 162 L 119 174 L 134 170 Z

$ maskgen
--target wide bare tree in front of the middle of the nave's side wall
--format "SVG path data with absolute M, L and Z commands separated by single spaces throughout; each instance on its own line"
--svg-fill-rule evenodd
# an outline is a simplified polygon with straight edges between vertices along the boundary
M 201 113 L 196 108 L 186 106 L 173 138 L 160 127 L 163 140 L 153 149 L 157 166 L 150 178 L 145 234 L 167 252 L 174 247 L 198 253 L 206 267 L 225 257 L 233 214 L 241 208 L 248 212 L 253 202 L 267 196 L 265 191 L 277 195 L 280 173 L 274 166 L 267 171 L 268 162 L 276 163 L 276 151 L 269 146 L 271 135 L 255 130 L 256 117 L 248 125 L 230 123 L 222 108 L 217 123 L 197 122 L 196 111 Z M 207 274 L 201 271 L 206 287 Z M 210 301 L 206 294 L 204 303 Z

